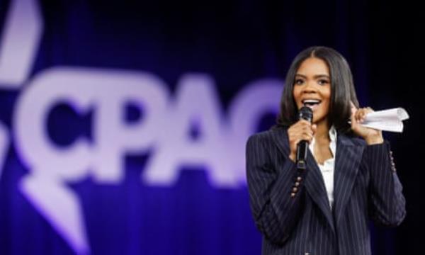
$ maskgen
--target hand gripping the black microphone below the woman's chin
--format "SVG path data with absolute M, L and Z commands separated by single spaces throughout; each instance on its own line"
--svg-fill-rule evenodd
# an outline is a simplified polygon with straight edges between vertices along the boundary
M 312 142 L 314 132 L 316 132 L 317 125 L 311 124 L 307 120 L 298 120 L 297 123 L 294 123 L 288 128 L 288 139 L 290 154 L 289 158 L 295 162 L 295 157 L 297 155 L 297 145 L 301 140 L 306 140 L 307 142 Z

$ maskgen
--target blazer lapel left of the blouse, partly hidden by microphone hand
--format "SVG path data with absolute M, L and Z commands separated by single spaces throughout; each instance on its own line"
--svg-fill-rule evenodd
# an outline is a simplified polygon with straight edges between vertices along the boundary
M 290 147 L 286 129 L 278 128 L 276 129 L 276 132 L 272 132 L 272 134 L 274 138 L 273 140 L 276 142 L 280 152 L 282 152 L 285 157 L 288 157 Z M 314 203 L 316 203 L 320 210 L 322 210 L 324 216 L 329 222 L 329 225 L 331 226 L 331 229 L 334 231 L 334 220 L 332 218 L 331 208 L 329 207 L 329 200 L 327 198 L 326 188 L 324 187 L 322 173 L 320 172 L 319 166 L 317 166 L 316 160 L 310 152 L 310 149 L 307 152 L 307 171 L 305 189 Z

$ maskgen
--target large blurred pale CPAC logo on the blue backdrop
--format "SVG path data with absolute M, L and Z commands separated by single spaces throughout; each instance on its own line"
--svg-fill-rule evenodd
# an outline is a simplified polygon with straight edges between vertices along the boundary
M 245 185 L 246 138 L 265 113 L 277 111 L 280 81 L 247 84 L 224 115 L 208 74 L 183 74 L 173 96 L 164 81 L 147 72 L 55 67 L 29 79 L 41 35 L 35 0 L 11 2 L 0 45 L 0 87 L 20 89 L 25 84 L 11 130 L 29 169 L 21 191 L 77 254 L 89 253 L 90 246 L 81 206 L 67 183 L 90 176 L 98 183 L 118 185 L 125 154 L 154 148 L 140 176 L 147 185 L 173 185 L 182 166 L 205 166 L 210 184 L 217 188 Z M 52 142 L 46 120 L 58 103 L 81 114 L 94 110 L 93 142 L 84 137 L 68 147 Z M 143 113 L 136 123 L 123 122 L 128 103 Z M 196 140 L 188 136 L 194 123 L 201 131 Z M 0 125 L 1 166 L 9 139 Z

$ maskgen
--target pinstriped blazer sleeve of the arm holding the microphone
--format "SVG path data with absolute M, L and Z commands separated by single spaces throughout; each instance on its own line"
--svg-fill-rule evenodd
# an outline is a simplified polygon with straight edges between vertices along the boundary
M 259 231 L 271 242 L 283 244 L 301 214 L 306 174 L 297 171 L 295 163 L 289 157 L 283 157 L 282 154 L 271 155 L 267 150 L 270 146 L 276 145 L 272 140 L 266 140 L 266 137 L 258 134 L 249 137 L 246 143 L 249 202 Z M 276 157 L 283 158 L 284 161 Z M 279 162 L 276 165 L 279 169 L 276 169 L 272 160 Z M 294 190 L 295 186 L 297 187 Z

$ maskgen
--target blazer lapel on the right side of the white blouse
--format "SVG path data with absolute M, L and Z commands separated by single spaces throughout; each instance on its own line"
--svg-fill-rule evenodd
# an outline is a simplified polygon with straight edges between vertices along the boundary
M 351 196 L 363 149 L 363 145 L 355 145 L 345 135 L 338 135 L 334 167 L 334 214 L 336 224 L 341 219 L 348 198 Z

